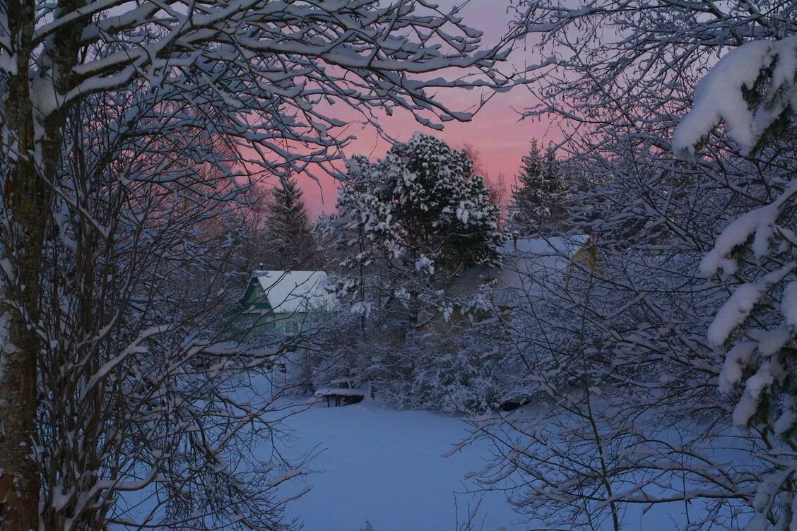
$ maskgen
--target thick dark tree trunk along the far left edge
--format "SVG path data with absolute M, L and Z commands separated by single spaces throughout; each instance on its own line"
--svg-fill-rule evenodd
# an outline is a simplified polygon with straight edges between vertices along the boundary
M 33 2 L 9 5 L 11 35 L 17 37 L 18 74 L 8 80 L 6 127 L 16 136 L 16 149 L 6 149 L 3 206 L 11 223 L 6 248 L 18 282 L 2 287 L 0 319 L 6 334 L 0 346 L 0 530 L 25 531 L 38 527 L 39 470 L 31 459 L 36 440 L 37 342 L 26 326 L 24 312 L 34 320 L 38 302 L 41 245 L 46 217 L 42 189 L 30 154 L 33 153 L 33 105 L 28 80 L 33 36 Z M 14 42 L 14 38 L 12 38 Z M 13 140 L 11 140 L 13 143 Z M 9 146 L 10 147 L 10 146 Z M 12 301 L 14 303 L 12 303 Z

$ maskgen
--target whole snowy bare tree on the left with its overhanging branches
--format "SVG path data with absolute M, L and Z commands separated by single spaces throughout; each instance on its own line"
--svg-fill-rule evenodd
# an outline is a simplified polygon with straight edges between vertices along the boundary
M 255 178 L 334 173 L 335 103 L 469 119 L 433 92 L 507 87 L 513 31 L 480 49 L 422 1 L 4 2 L 0 529 L 283 525 L 281 464 L 235 451 L 273 436 L 236 368 L 277 350 L 210 348 L 212 225 Z

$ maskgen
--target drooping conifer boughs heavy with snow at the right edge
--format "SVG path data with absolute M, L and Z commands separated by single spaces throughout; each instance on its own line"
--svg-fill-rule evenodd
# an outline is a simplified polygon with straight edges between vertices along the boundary
M 693 107 L 673 134 L 673 150 L 696 154 L 724 124 L 741 153 L 756 158 L 756 152 L 778 143 L 779 136 L 793 138 L 795 109 L 797 37 L 748 42 L 725 54 L 697 84 Z M 733 422 L 752 428 L 768 425 L 779 439 L 773 451 L 779 467 L 757 488 L 757 514 L 747 528 L 751 531 L 768 529 L 772 514 L 777 514 L 778 529 L 797 525 L 790 502 L 797 470 L 791 457 L 797 431 L 797 301 L 792 296 L 797 282 L 797 184 L 793 175 L 791 182 L 768 174 L 764 178 L 770 191 L 762 204 L 724 227 L 700 264 L 704 275 L 744 279 L 732 287 L 708 330 L 713 346 L 730 347 L 721 383 L 732 396 L 738 396 L 732 392 L 735 386 L 741 388 Z

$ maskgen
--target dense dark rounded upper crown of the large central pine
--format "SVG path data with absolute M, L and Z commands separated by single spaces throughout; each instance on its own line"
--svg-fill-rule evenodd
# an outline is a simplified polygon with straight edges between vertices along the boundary
M 496 265 L 499 209 L 464 150 L 415 133 L 376 163 L 352 159 L 338 217 L 363 225 L 402 263 L 440 270 Z

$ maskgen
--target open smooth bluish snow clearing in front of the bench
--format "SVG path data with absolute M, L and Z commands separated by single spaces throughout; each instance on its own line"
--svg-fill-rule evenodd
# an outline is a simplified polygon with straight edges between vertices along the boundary
M 289 453 L 322 450 L 312 461 L 318 472 L 304 479 L 312 490 L 289 506 L 307 531 L 357 531 L 366 519 L 376 531 L 454 531 L 454 493 L 466 490 L 465 474 L 485 467 L 484 447 L 443 457 L 466 435 L 453 416 L 397 411 L 379 401 L 320 403 L 286 424 L 295 437 Z M 457 494 L 460 523 L 473 502 L 473 495 Z M 503 494 L 489 493 L 480 516 L 485 531 L 518 529 Z

